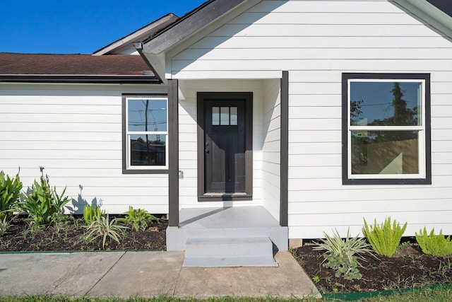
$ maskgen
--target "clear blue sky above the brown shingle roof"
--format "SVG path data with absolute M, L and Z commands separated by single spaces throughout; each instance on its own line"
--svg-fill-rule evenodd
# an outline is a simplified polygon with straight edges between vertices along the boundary
M 7 0 L 0 52 L 91 54 L 167 13 L 183 16 L 206 0 Z

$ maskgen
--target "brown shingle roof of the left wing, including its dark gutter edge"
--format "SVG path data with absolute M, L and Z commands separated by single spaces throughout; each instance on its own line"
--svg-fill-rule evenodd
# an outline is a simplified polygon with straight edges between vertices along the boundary
M 157 77 L 140 56 L 111 54 L 18 54 L 0 52 L 0 81 L 59 83 L 153 83 Z

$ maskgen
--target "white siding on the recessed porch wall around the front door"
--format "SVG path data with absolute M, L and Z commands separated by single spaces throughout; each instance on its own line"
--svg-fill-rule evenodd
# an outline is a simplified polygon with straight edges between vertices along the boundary
M 253 200 L 226 202 L 226 204 L 262 204 L 261 149 L 263 145 L 261 81 L 179 81 L 179 204 L 189 207 L 222 207 L 223 202 L 198 202 L 198 144 L 197 93 L 198 92 L 252 92 L 253 93 Z

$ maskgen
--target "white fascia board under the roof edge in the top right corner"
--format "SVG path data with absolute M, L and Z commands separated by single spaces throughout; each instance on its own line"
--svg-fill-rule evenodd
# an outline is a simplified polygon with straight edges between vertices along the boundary
M 388 0 L 422 18 L 444 35 L 452 38 L 452 17 L 427 0 Z

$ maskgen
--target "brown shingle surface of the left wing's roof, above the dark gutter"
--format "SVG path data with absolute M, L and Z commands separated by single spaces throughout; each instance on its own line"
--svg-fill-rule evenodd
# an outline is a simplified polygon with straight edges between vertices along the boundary
M 149 70 L 149 66 L 142 57 L 132 55 L 92 56 L 90 54 L 0 52 L 0 74 L 8 75 L 137 76 Z

